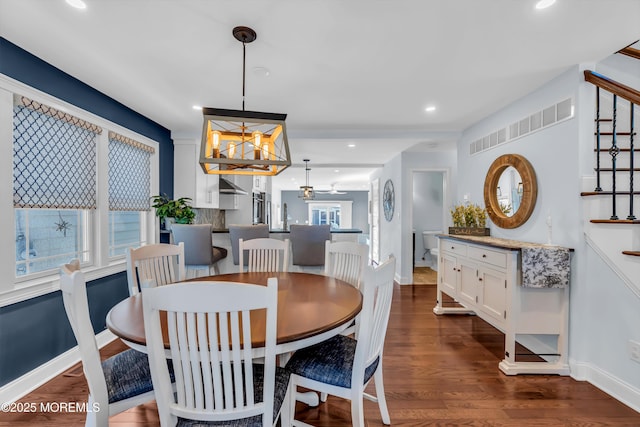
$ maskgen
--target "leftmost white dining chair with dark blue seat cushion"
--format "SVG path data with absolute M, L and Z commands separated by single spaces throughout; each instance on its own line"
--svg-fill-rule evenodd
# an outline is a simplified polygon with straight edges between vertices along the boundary
M 90 410 L 85 425 L 107 427 L 110 416 L 155 399 L 147 355 L 130 349 L 100 362 L 86 281 L 78 260 L 61 267 L 60 290 L 89 386 Z

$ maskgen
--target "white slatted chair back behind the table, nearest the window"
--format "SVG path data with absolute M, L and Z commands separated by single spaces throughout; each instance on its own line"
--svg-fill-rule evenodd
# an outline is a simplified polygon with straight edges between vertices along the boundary
M 185 280 L 184 243 L 157 243 L 127 249 L 129 295 L 142 286 L 162 286 Z

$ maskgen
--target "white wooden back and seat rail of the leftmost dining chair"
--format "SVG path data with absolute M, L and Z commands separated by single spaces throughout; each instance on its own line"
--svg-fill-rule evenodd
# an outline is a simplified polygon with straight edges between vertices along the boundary
M 153 391 L 109 404 L 109 391 L 102 370 L 98 343 L 89 316 L 87 285 L 84 274 L 80 271 L 79 260 L 74 259 L 60 268 L 60 291 L 67 318 L 78 342 L 82 370 L 89 386 L 89 408 L 100 408 L 98 411 L 87 412 L 85 425 L 107 427 L 109 415 L 153 400 Z

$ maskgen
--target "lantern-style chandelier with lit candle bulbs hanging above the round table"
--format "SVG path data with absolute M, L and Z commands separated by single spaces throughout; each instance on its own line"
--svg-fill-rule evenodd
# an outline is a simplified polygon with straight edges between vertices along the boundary
M 287 115 L 245 111 L 245 48 L 256 32 L 235 27 L 233 36 L 242 42 L 242 111 L 202 109 L 200 166 L 206 174 L 277 175 L 291 165 Z

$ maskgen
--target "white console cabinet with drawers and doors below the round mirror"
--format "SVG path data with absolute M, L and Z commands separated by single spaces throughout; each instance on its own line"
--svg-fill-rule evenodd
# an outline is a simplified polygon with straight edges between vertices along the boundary
M 476 314 L 505 334 L 499 368 L 507 375 L 569 375 L 569 288 L 521 286 L 521 248 L 536 244 L 491 237 L 439 236 L 435 314 Z M 443 306 L 443 294 L 457 304 Z M 539 355 L 519 361 L 516 342 Z

